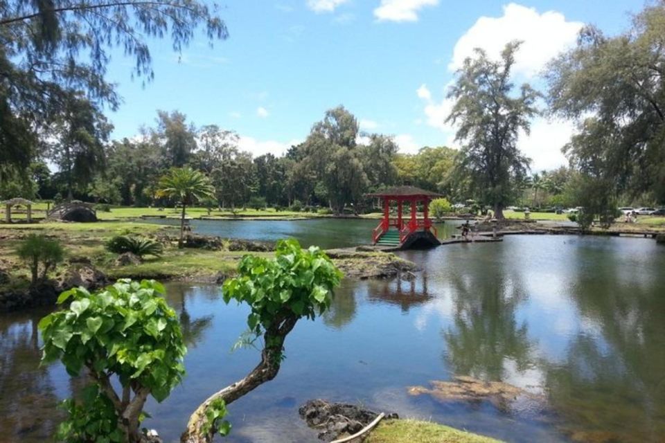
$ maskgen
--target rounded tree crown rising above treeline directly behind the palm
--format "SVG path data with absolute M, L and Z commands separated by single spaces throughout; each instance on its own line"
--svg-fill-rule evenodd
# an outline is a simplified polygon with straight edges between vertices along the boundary
M 161 147 L 168 168 L 186 165 L 196 150 L 196 129 L 186 120 L 179 111 L 157 111 L 157 129 L 152 130 L 152 137 Z

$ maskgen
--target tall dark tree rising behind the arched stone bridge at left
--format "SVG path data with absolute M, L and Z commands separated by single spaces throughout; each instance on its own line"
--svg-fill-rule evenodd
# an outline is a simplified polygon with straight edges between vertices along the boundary
M 59 167 L 67 181 L 67 199 L 75 186 L 85 189 L 95 172 L 104 166 L 104 142 L 112 125 L 96 105 L 73 93 L 67 98 L 62 114 L 50 129 L 48 157 Z

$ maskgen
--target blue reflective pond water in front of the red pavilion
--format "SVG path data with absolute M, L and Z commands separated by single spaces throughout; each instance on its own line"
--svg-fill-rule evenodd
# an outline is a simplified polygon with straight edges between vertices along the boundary
M 233 430 L 220 441 L 314 442 L 297 413 L 312 398 L 507 442 L 665 440 L 664 247 L 539 235 L 400 255 L 423 266 L 416 280 L 345 282 L 331 311 L 296 325 L 276 379 L 230 406 Z M 186 332 L 188 375 L 163 404 L 149 402 L 146 425 L 176 442 L 199 401 L 247 374 L 259 353 L 229 352 L 247 309 L 224 305 L 217 287 L 168 284 L 168 301 Z M 38 367 L 44 312 L 0 316 L 0 441 L 44 441 L 57 400 L 81 384 L 60 365 Z M 450 401 L 407 391 L 455 375 L 528 395 Z

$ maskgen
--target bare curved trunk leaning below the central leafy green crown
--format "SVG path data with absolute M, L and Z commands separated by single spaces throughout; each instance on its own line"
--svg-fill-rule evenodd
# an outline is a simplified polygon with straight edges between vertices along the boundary
M 189 418 L 187 430 L 180 437 L 181 443 L 211 443 L 217 430 L 214 426 L 211 426 L 209 433 L 203 432 L 204 424 L 207 421 L 206 410 L 210 404 L 215 400 L 222 399 L 224 404 L 228 406 L 233 401 L 251 392 L 251 390 L 276 377 L 281 365 L 284 340 L 297 321 L 298 318 L 296 317 L 286 318 L 283 322 L 280 322 L 281 324 L 271 327 L 263 334 L 266 346 L 261 352 L 260 363 L 247 374 L 247 377 L 236 381 L 236 383 L 219 392 L 215 392 L 194 411 Z

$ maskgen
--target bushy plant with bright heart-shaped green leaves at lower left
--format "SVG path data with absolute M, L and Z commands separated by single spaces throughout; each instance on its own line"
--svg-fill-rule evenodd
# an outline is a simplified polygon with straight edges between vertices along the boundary
M 72 377 L 85 372 L 96 386 L 66 404 L 64 441 L 141 441 L 145 401 L 166 399 L 185 372 L 180 325 L 163 294 L 153 280 L 118 280 L 95 293 L 71 289 L 57 300 L 71 301 L 69 308 L 39 322 L 42 364 L 62 361 Z

